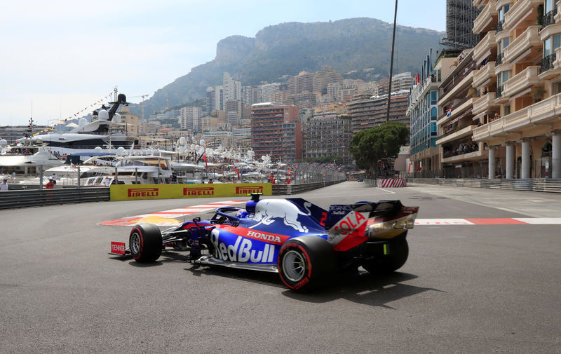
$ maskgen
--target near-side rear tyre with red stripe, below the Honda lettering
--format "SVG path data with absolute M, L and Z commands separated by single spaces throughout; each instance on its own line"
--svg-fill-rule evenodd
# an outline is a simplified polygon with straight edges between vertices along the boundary
M 318 236 L 287 240 L 278 251 L 277 266 L 280 279 L 297 292 L 322 285 L 336 268 L 331 245 Z

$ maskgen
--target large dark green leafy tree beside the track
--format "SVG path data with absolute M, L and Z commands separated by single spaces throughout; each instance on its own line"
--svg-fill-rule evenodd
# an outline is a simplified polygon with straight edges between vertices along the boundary
M 381 160 L 395 158 L 399 148 L 409 141 L 409 128 L 398 122 L 388 122 L 353 135 L 349 151 L 358 168 L 381 171 Z

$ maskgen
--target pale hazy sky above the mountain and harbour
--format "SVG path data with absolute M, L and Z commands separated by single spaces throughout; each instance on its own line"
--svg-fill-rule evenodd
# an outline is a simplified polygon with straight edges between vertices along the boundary
M 129 102 L 214 59 L 232 35 L 283 22 L 377 18 L 394 1 L 2 1 L 0 125 L 52 125 L 117 87 Z M 445 0 L 398 1 L 398 25 L 445 31 Z M 102 101 L 103 102 L 103 101 Z M 1 137 L 0 137 L 1 138 Z

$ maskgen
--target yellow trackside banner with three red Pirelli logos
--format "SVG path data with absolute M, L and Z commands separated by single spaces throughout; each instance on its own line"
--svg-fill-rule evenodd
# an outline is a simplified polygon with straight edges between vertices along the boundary
M 272 196 L 273 187 L 270 183 L 111 185 L 111 200 L 245 197 L 248 193 Z

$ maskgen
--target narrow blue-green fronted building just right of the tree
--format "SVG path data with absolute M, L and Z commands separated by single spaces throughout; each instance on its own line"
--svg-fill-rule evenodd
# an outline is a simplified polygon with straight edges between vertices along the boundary
M 448 76 L 455 58 L 440 55 L 431 64 L 431 56 L 424 61 L 424 71 L 414 85 L 409 96 L 406 115 L 410 118 L 410 163 L 405 171 L 414 172 L 417 177 L 440 175 L 440 149 L 436 144 L 438 130 L 438 86 L 442 77 Z M 425 75 L 425 73 L 427 73 Z

